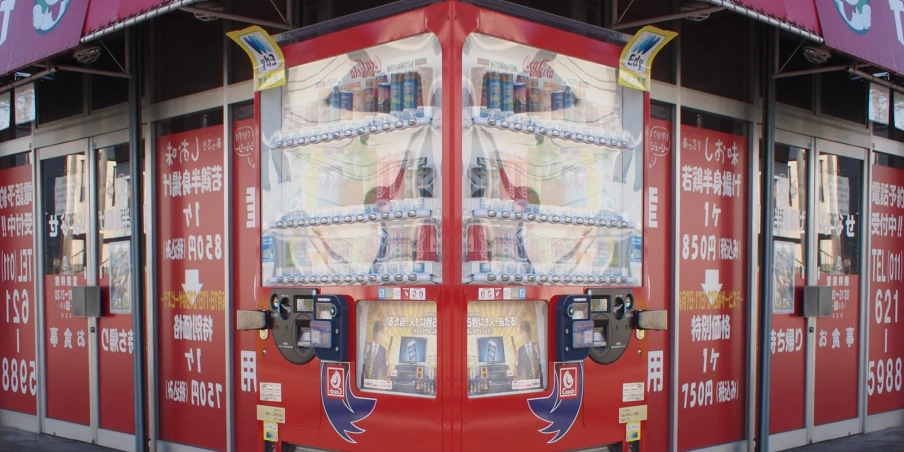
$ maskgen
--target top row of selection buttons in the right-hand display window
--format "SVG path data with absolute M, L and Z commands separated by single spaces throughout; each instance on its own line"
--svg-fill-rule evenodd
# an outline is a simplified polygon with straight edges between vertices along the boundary
M 525 115 L 505 116 L 498 113 L 481 112 L 479 115 L 473 116 L 471 120 L 477 126 L 557 138 L 576 143 L 594 144 L 614 149 L 633 150 L 639 145 L 639 140 L 624 131 L 584 128 L 569 123 L 531 118 Z

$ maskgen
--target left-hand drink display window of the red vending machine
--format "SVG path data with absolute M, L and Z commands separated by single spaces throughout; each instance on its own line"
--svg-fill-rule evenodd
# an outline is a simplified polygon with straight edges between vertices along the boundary
M 265 285 L 441 282 L 441 71 L 426 33 L 261 93 Z

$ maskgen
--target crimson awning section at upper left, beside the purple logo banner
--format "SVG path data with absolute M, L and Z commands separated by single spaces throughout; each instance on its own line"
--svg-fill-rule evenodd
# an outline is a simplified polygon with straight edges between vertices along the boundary
M 87 1 L 87 0 L 83 0 Z M 199 0 L 90 0 L 82 43 L 198 3 Z

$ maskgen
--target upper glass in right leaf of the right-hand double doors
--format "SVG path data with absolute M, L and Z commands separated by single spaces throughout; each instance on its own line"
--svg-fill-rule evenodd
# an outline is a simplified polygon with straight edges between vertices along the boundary
M 819 156 L 816 222 L 822 273 L 859 274 L 862 165 L 849 157 Z

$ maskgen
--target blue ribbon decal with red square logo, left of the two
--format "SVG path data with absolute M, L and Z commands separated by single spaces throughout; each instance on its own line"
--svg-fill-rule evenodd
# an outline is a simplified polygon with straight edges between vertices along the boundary
M 355 424 L 373 413 L 377 400 L 355 397 L 349 378 L 349 363 L 320 363 L 320 399 L 326 418 L 342 439 L 355 443 L 349 435 L 364 433 L 365 430 Z

